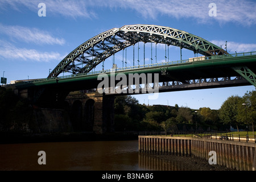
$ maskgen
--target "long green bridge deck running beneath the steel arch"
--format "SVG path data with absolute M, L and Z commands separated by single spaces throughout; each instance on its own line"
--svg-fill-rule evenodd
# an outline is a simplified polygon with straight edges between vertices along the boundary
M 63 88 L 72 89 L 93 89 L 97 88 L 100 81 L 97 77 L 100 73 L 107 75 L 124 73 L 159 73 L 159 82 L 179 81 L 188 83 L 188 80 L 202 78 L 220 78 L 241 76 L 234 71 L 234 67 L 247 67 L 256 73 L 256 52 L 236 53 L 230 55 L 218 55 L 205 57 L 205 60 L 189 59 L 170 61 L 166 63 L 156 63 L 147 65 L 138 65 L 135 67 L 109 69 L 105 71 L 81 73 L 63 77 L 42 78 L 16 84 L 18 88 L 28 88 L 31 86 L 50 86 L 58 85 Z M 117 81 L 118 82 L 118 81 Z M 241 85 L 241 84 L 240 84 Z M 242 85 L 245 84 L 243 81 Z

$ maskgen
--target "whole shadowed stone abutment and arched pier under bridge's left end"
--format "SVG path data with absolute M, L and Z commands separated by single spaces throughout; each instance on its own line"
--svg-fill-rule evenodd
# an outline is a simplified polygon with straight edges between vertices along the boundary
M 17 89 L 13 86 L 12 89 L 18 97 L 30 102 L 35 133 L 104 134 L 114 131 L 114 96 L 94 90 L 61 93 L 40 88 Z

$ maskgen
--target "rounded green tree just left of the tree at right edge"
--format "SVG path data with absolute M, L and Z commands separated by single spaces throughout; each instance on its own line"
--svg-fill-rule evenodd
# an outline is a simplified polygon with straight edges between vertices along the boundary
M 242 98 L 239 96 L 231 96 L 221 105 L 220 108 L 220 119 L 225 124 L 236 125 L 237 131 L 238 124 L 241 123 L 241 120 L 238 118 L 238 109 L 242 105 Z

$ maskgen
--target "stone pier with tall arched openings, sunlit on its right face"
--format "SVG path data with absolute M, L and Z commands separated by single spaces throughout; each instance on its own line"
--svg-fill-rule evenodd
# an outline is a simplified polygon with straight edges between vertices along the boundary
M 114 96 L 71 92 L 68 103 L 73 130 L 103 134 L 114 131 Z

